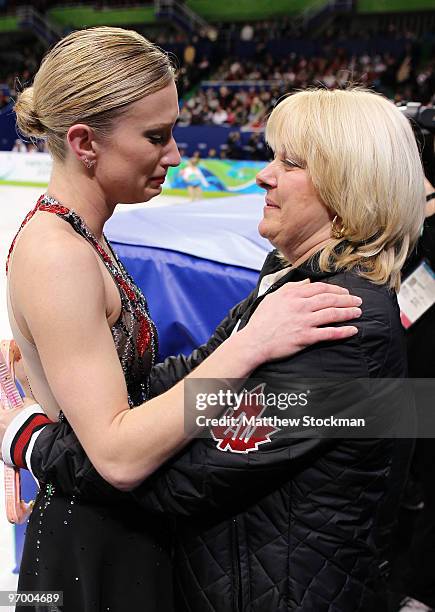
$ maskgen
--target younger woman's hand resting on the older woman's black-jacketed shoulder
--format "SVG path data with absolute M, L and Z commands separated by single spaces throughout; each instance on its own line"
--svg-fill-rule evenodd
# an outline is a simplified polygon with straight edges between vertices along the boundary
M 262 300 L 239 333 L 252 343 L 259 364 L 289 357 L 316 342 L 354 336 L 353 325 L 330 325 L 358 318 L 361 302 L 337 285 L 286 283 Z

